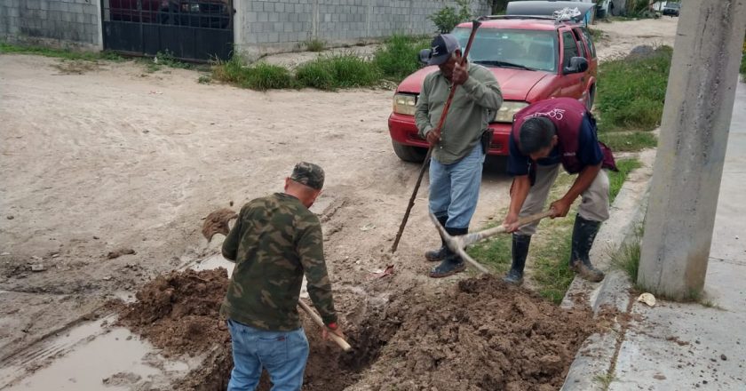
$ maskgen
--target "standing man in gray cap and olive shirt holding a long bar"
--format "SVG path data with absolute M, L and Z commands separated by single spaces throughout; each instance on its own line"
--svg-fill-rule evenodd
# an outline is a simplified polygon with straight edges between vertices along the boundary
M 464 235 L 477 207 L 482 164 L 489 148 L 489 121 L 503 104 L 495 76 L 487 68 L 464 61 L 455 36 L 443 34 L 433 39 L 428 65 L 439 70 L 425 76 L 417 100 L 417 130 L 433 148 L 430 163 L 430 211 L 448 235 Z M 446 122 L 440 134 L 434 129 L 456 88 Z M 440 261 L 430 276 L 445 277 L 465 269 L 464 259 L 440 249 L 425 252 L 425 259 Z

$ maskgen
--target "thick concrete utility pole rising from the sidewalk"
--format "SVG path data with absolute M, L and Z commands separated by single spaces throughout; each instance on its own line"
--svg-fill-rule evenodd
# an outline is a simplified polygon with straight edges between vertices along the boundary
M 744 30 L 746 0 L 681 7 L 640 257 L 647 291 L 686 299 L 704 287 Z

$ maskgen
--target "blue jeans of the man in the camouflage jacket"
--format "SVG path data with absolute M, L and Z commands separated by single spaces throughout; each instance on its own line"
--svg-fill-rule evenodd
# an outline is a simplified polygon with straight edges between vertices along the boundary
M 272 391 L 298 391 L 308 360 L 308 339 L 303 328 L 295 331 L 264 331 L 228 319 L 234 369 L 228 391 L 254 391 L 269 372 Z

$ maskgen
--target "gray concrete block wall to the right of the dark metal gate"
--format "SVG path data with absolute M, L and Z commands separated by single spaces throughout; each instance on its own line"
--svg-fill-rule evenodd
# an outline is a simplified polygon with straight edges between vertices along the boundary
M 354 44 L 393 34 L 430 35 L 427 17 L 451 0 L 234 0 L 235 44 L 249 57 L 288 52 L 310 39 Z M 485 15 L 487 0 L 472 0 L 472 12 Z

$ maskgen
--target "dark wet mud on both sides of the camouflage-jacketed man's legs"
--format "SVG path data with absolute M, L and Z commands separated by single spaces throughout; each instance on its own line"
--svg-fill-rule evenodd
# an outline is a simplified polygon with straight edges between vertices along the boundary
M 219 315 L 220 303 L 226 295 L 226 270 L 171 272 L 147 283 L 136 294 L 138 301 L 123 307 L 118 323 L 148 339 L 164 355 L 202 355 L 202 367 L 181 379 L 175 389 L 212 391 L 225 390 L 233 368 L 230 334 Z M 384 345 L 374 332 L 360 335 L 369 328 L 368 322 L 351 328 L 347 337 L 366 347 L 354 355 L 344 354 L 331 341 L 321 338 L 321 331 L 305 313 L 300 312 L 310 355 L 306 365 L 304 390 L 341 390 L 359 379 L 365 368 Z M 270 389 L 266 373 L 259 383 L 260 391 Z

